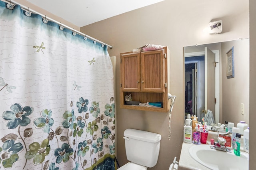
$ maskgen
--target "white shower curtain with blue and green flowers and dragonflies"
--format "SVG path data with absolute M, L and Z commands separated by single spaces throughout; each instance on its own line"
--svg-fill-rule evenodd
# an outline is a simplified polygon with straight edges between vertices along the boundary
M 115 169 L 107 47 L 2 1 L 0 115 L 0 169 Z

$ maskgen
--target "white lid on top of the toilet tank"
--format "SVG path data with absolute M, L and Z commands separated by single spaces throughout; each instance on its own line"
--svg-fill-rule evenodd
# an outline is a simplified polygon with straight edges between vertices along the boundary
M 124 130 L 124 136 L 136 140 L 156 143 L 162 138 L 161 134 L 128 128 Z

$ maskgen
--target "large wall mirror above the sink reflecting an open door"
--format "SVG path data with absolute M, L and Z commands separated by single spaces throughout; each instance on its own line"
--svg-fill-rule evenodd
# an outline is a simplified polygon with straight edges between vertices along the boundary
M 230 49 L 234 77 L 227 76 Z M 215 124 L 249 123 L 249 39 L 184 47 L 185 119 L 212 112 Z M 210 113 L 210 112 L 209 112 Z

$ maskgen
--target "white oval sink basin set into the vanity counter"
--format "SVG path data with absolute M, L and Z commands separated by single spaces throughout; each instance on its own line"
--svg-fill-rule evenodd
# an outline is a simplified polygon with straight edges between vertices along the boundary
M 199 144 L 190 147 L 190 156 L 198 163 L 211 170 L 248 170 L 249 154 L 241 152 L 236 156 L 234 151 L 224 152 L 211 149 L 208 144 Z

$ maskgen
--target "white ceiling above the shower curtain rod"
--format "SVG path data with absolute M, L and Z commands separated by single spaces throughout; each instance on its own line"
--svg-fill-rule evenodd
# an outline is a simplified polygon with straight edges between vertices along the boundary
M 78 26 L 86 26 L 163 0 L 27 0 Z

